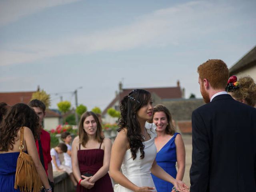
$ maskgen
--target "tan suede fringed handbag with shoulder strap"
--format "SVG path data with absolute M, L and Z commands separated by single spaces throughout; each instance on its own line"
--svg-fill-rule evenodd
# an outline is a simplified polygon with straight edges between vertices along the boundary
M 21 192 L 38 192 L 42 187 L 41 179 L 36 171 L 35 163 L 29 154 L 23 152 L 24 127 L 20 128 L 20 155 L 17 160 L 14 189 L 20 187 Z

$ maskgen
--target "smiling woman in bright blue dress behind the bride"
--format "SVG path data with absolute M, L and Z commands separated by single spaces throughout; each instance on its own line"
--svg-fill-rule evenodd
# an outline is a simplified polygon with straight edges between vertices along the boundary
M 156 162 L 172 177 L 182 180 L 185 172 L 185 146 L 181 135 L 175 132 L 172 116 L 164 105 L 154 107 L 153 122 L 156 124 L 157 132 L 155 138 Z M 152 178 L 158 192 L 175 192 L 172 190 L 173 185 L 170 182 L 161 180 L 154 175 Z

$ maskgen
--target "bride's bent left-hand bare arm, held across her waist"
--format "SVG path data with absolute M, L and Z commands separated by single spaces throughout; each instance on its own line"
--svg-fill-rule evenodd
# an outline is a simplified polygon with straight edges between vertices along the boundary
M 130 182 L 130 180 L 128 180 L 128 178 L 126 178 L 126 176 L 124 176 L 122 172 L 120 172 L 120 168 L 124 159 L 124 155 L 126 153 L 126 149 L 129 146 L 126 134 L 126 130 L 121 130 L 116 136 L 116 140 L 114 141 L 111 150 L 109 174 L 117 183 L 132 191 L 152 192 L 152 190 L 150 189 L 154 188 L 138 187 L 132 182 Z

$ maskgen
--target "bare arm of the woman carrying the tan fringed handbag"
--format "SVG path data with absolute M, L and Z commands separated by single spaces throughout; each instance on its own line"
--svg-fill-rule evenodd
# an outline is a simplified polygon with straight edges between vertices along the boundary
M 50 185 L 48 182 L 46 172 L 45 172 L 45 170 L 39 160 L 39 157 L 38 157 L 38 152 L 36 149 L 36 143 L 34 140 L 34 136 L 32 134 L 32 131 L 27 127 L 24 128 L 24 141 L 26 143 L 28 154 L 32 157 L 32 160 L 34 161 L 34 164 L 36 166 L 36 171 L 38 172 L 44 187 L 46 189 L 49 189 Z

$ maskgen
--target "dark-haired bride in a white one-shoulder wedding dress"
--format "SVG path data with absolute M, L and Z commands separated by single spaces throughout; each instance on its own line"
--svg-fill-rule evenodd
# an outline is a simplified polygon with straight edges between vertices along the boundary
M 120 128 L 112 146 L 109 169 L 110 176 L 118 183 L 114 192 L 156 192 L 150 173 L 172 183 L 174 191 L 188 192 L 182 181 L 156 164 L 156 132 L 152 124 L 146 124 L 153 114 L 150 93 L 133 90 L 122 99 L 120 112 Z

